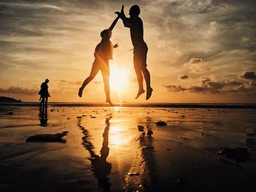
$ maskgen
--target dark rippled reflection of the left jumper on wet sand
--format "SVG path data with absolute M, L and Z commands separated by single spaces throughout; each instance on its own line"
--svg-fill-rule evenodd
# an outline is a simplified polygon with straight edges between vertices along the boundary
M 110 117 L 112 118 L 112 117 Z M 106 118 L 105 123 L 105 129 L 102 134 L 103 142 L 102 142 L 102 148 L 100 150 L 100 155 L 97 155 L 94 152 L 94 145 L 91 142 L 91 134 L 88 130 L 86 130 L 85 127 L 80 125 L 81 119 L 78 119 L 78 127 L 83 131 L 84 137 L 82 138 L 83 147 L 86 148 L 86 150 L 89 151 L 91 157 L 89 160 L 91 161 L 91 171 L 94 172 L 95 177 L 98 180 L 99 188 L 102 188 L 102 191 L 110 191 L 110 179 L 108 175 L 111 172 L 111 164 L 108 163 L 107 158 L 109 154 L 109 147 L 108 147 L 108 131 L 110 129 L 110 118 Z

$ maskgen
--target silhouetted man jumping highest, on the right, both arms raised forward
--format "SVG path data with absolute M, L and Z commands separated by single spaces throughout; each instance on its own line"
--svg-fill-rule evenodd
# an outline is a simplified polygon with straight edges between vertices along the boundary
M 139 91 L 135 99 L 138 99 L 141 94 L 145 93 L 143 88 L 143 76 L 146 81 L 146 99 L 149 99 L 153 89 L 150 85 L 150 73 L 148 72 L 146 64 L 148 46 L 143 39 L 143 21 L 139 17 L 140 7 L 138 7 L 138 5 L 132 5 L 129 9 L 129 18 L 124 15 L 124 5 L 121 7 L 121 12 L 115 13 L 123 20 L 124 26 L 129 28 L 132 45 L 134 47 L 133 63 L 139 85 Z

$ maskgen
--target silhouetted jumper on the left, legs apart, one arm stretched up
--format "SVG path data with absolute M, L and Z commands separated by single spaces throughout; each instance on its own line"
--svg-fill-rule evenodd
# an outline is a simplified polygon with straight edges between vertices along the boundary
M 79 88 L 78 96 L 82 97 L 83 89 L 86 87 L 86 85 L 91 82 L 91 80 L 94 79 L 94 77 L 97 75 L 99 70 L 102 72 L 103 82 L 104 82 L 104 88 L 105 88 L 105 94 L 106 94 L 106 102 L 108 102 L 110 105 L 112 105 L 112 102 L 110 100 L 110 86 L 109 86 L 109 77 L 110 77 L 110 70 L 108 61 L 110 59 L 113 59 L 113 48 L 118 47 L 118 44 L 112 45 L 112 42 L 110 42 L 110 38 L 112 36 L 112 30 L 116 26 L 116 23 L 118 21 L 119 17 L 117 17 L 110 28 L 103 30 L 100 33 L 100 37 L 102 37 L 102 41 L 97 45 L 94 52 L 94 63 L 91 67 L 91 73 L 89 77 L 84 80 L 83 85 Z

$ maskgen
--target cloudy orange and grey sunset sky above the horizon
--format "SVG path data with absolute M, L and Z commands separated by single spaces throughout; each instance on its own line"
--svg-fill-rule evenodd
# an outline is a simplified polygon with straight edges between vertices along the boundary
M 49 101 L 104 102 L 100 73 L 82 98 L 78 88 L 100 32 L 122 4 L 127 17 L 129 7 L 140 6 L 154 91 L 148 101 L 146 94 L 135 99 L 129 28 L 118 20 L 111 38 L 119 44 L 110 61 L 114 103 L 256 103 L 255 0 L 1 0 L 0 96 L 38 101 L 48 78 Z

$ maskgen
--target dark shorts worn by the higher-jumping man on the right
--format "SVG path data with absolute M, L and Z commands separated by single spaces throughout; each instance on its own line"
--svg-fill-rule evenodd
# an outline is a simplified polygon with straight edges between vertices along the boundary
M 145 44 L 135 47 L 133 50 L 133 64 L 135 68 L 147 66 L 148 46 Z

